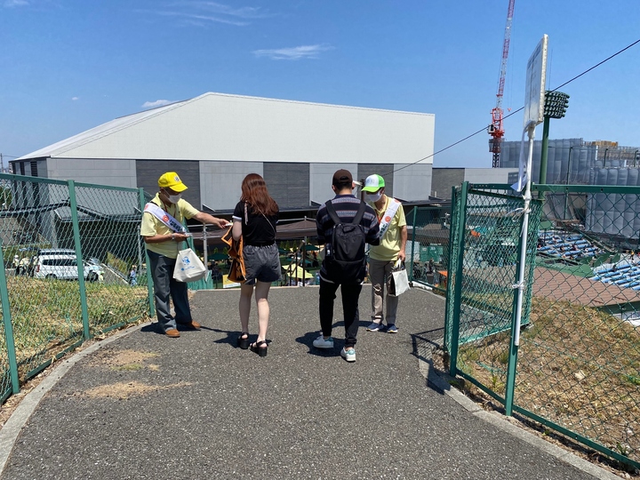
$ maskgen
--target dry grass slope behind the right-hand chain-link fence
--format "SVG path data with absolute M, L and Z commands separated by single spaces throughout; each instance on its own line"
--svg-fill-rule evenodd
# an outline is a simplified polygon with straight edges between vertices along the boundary
M 534 298 L 515 403 L 640 460 L 640 332 L 603 312 Z M 508 332 L 460 347 L 459 368 L 504 396 Z

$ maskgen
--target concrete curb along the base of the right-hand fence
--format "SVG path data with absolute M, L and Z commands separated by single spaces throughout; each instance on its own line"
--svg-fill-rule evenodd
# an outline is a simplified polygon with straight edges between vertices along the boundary
M 443 342 L 444 339 L 440 339 L 436 340 L 435 343 L 437 343 L 438 345 L 443 345 Z M 457 388 L 452 388 L 452 384 L 450 382 L 453 379 L 449 375 L 436 371 L 436 369 L 433 367 L 433 364 L 430 363 L 432 347 L 431 343 L 419 340 L 417 347 L 420 354 L 418 356 L 420 373 L 422 373 L 425 379 L 428 380 L 428 385 L 430 385 L 432 388 L 436 388 L 438 391 L 441 391 L 444 395 L 451 397 L 458 404 L 460 404 L 462 408 L 472 413 L 477 418 L 492 424 L 492 426 L 495 428 L 500 428 L 500 430 L 508 433 L 511 436 L 515 436 L 516 438 L 523 440 L 527 444 L 532 445 L 542 452 L 548 453 L 549 455 L 555 457 L 557 460 L 564 461 L 564 463 L 568 463 L 569 465 L 580 469 L 590 476 L 594 476 L 595 478 L 599 478 L 602 480 L 620 480 L 620 476 L 612 474 L 610 471 L 605 470 L 604 468 L 598 467 L 597 465 L 594 465 L 587 460 L 581 459 L 580 457 L 574 455 L 572 452 L 568 452 L 557 445 L 550 444 L 539 436 L 535 436 L 532 433 L 527 432 L 523 428 L 519 428 L 516 425 L 513 425 L 506 419 L 506 417 L 504 417 L 499 412 L 485 411 L 478 404 L 476 404 L 476 402 L 460 392 L 460 390 L 458 390 Z

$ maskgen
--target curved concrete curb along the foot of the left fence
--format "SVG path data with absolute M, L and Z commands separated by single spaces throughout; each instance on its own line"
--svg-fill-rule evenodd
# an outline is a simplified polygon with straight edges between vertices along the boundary
M 47 377 L 42 380 L 36 388 L 31 390 L 22 399 L 18 407 L 12 413 L 12 416 L 9 417 L 9 420 L 4 424 L 4 427 L 0 429 L 0 475 L 2 475 L 4 466 L 6 465 L 7 460 L 9 460 L 9 455 L 11 455 L 13 445 L 15 444 L 18 435 L 20 435 L 20 430 L 25 426 L 31 414 L 36 411 L 36 407 L 40 404 L 43 397 L 49 392 L 49 390 L 51 390 L 58 380 L 64 377 L 71 367 L 77 364 L 85 356 L 92 355 L 92 353 L 99 348 L 124 337 L 124 335 L 135 332 L 148 324 L 151 324 L 151 322 L 129 327 L 122 332 L 117 332 L 116 334 L 108 337 L 108 339 L 100 340 L 92 346 L 84 348 L 84 350 L 77 352 L 69 358 L 65 358 L 60 364 L 53 368 L 52 372 L 49 373 L 49 375 L 47 375 Z

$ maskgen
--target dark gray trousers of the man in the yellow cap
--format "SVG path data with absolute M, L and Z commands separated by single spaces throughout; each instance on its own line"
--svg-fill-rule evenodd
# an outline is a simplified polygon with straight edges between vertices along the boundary
M 177 328 L 177 324 L 191 323 L 191 309 L 188 304 L 187 284 L 173 279 L 173 268 L 176 260 L 147 251 L 151 277 L 154 281 L 154 299 L 156 300 L 156 316 L 163 332 Z M 171 314 L 169 297 L 173 300 L 175 318 Z

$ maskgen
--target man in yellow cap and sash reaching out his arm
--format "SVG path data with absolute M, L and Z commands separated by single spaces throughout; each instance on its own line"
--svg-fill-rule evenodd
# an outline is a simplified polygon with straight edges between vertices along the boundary
M 156 196 L 145 206 L 142 213 L 140 235 L 144 238 L 149 258 L 149 272 L 154 282 L 156 315 L 163 332 L 171 338 L 180 337 L 178 324 L 189 329 L 200 330 L 191 317 L 188 304 L 187 284 L 173 279 L 173 268 L 180 242 L 188 238 L 182 221 L 196 219 L 203 223 L 225 228 L 228 220 L 218 219 L 209 213 L 199 212 L 181 198 L 187 186 L 178 173 L 166 172 L 158 180 L 160 188 Z M 171 314 L 169 297 L 173 300 L 175 317 Z

